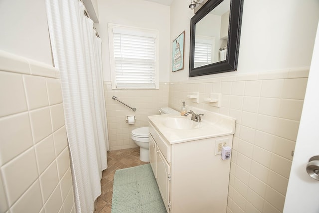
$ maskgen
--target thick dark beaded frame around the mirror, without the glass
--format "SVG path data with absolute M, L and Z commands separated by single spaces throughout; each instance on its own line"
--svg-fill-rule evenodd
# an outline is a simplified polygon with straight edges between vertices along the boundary
M 244 0 L 230 1 L 230 17 L 228 26 L 226 60 L 194 68 L 196 23 L 199 22 L 202 18 L 204 18 L 222 1 L 223 0 L 209 0 L 198 10 L 196 15 L 194 15 L 190 20 L 189 77 L 210 75 L 221 72 L 231 72 L 237 70 L 240 29 Z

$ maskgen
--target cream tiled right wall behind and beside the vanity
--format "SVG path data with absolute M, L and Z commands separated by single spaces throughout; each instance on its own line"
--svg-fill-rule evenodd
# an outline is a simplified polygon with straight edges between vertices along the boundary
M 308 70 L 235 74 L 174 82 L 169 107 L 180 103 L 236 118 L 227 213 L 281 213 L 291 167 Z M 187 95 L 199 92 L 199 103 Z M 221 107 L 203 101 L 221 93 Z

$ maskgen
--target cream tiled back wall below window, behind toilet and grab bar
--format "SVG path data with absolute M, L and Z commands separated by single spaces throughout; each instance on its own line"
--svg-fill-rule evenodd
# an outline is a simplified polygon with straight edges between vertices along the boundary
M 147 116 L 158 115 L 161 107 L 168 107 L 168 88 L 167 83 L 160 83 L 160 89 L 154 90 L 112 90 L 111 82 L 104 82 L 109 150 L 136 147 L 131 139 L 131 131 L 135 128 L 148 126 Z M 113 100 L 113 96 L 137 110 L 134 112 L 120 102 Z M 129 125 L 127 123 L 126 116 L 129 115 L 135 116 L 135 124 Z

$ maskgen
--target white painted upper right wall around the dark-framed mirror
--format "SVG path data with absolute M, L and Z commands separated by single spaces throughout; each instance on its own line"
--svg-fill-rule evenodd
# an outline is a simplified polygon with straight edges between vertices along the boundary
M 185 69 L 170 71 L 170 82 L 189 80 L 189 33 L 193 14 L 188 5 L 184 0 L 175 0 L 171 5 L 171 41 L 183 30 L 186 40 Z M 318 0 L 303 3 L 299 0 L 244 0 L 237 72 L 191 79 L 309 67 L 318 14 Z

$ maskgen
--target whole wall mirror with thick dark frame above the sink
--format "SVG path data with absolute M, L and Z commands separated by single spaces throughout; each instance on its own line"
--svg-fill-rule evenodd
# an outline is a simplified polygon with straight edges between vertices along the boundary
M 189 77 L 237 70 L 243 0 L 209 0 L 190 20 Z

